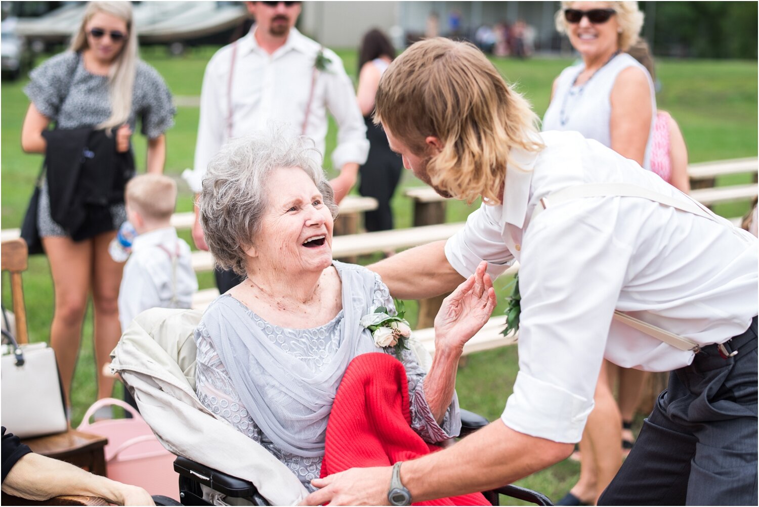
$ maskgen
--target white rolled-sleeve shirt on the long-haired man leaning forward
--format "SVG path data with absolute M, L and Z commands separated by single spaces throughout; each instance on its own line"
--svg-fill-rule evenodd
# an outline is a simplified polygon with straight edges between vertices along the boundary
M 615 310 L 695 343 L 723 343 L 757 315 L 757 239 L 737 227 L 633 197 L 550 205 L 568 186 L 622 182 L 685 200 L 650 171 L 576 132 L 541 133 L 538 153 L 512 151 L 504 204 L 482 205 L 446 243 L 463 276 L 520 262 L 519 373 L 502 421 L 556 442 L 580 440 L 603 357 L 625 368 L 689 365 L 681 351 L 612 321 Z

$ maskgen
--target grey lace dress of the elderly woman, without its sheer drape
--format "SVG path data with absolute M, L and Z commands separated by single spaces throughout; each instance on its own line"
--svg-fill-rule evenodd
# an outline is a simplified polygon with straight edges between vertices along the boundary
M 227 303 L 234 302 L 234 304 L 216 304 L 216 302 L 222 302 L 224 299 L 227 299 Z M 389 308 L 393 306 L 387 286 L 380 280 L 379 275 L 375 275 L 373 305 Z M 230 308 L 237 314 L 236 317 L 243 316 L 244 319 L 247 319 L 251 327 L 265 330 L 266 336 L 272 343 L 278 344 L 283 351 L 303 361 L 312 371 L 323 371 L 330 367 L 331 353 L 335 350 L 336 343 L 341 336 L 340 326 L 344 310 L 341 310 L 332 321 L 323 326 L 311 329 L 288 329 L 269 324 L 237 299 L 228 294 L 223 294 L 209 306 L 206 315 L 208 312 L 230 311 Z M 219 354 L 214 349 L 203 321 L 195 331 L 195 341 L 197 343 L 196 391 L 200 402 L 211 412 L 231 423 L 235 429 L 260 443 L 279 461 L 287 465 L 307 490 L 313 491 L 314 488 L 311 486 L 310 480 L 319 477 L 322 458 L 320 456 L 294 455 L 274 445 L 260 430 L 247 408 L 241 403 L 238 390 L 232 383 Z M 391 355 L 395 354 L 392 348 L 386 348 L 384 352 Z M 425 372 L 411 350 L 405 350 L 402 353 L 401 361 L 408 376 L 411 427 L 428 443 L 440 443 L 457 436 L 461 427 L 461 415 L 456 396 L 454 396 L 442 424 L 437 424 L 432 412 L 430 412 L 430 406 L 427 405 L 427 399 L 424 397 Z

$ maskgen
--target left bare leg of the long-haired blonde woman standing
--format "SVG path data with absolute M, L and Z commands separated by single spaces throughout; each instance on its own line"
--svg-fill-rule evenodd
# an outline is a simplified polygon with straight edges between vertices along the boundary
M 50 262 L 55 310 L 50 327 L 50 346 L 55 350 L 67 406 L 71 404 L 71 381 L 82 338 L 92 273 L 92 242 L 74 242 L 65 236 L 42 239 Z

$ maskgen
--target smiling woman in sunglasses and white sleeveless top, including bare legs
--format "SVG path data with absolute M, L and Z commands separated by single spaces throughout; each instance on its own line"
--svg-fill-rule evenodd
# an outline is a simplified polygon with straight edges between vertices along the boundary
M 576 130 L 650 170 L 657 111 L 653 80 L 625 53 L 638 41 L 642 27 L 638 2 L 562 2 L 556 29 L 566 33 L 581 61 L 553 82 L 543 130 Z M 580 480 L 559 505 L 597 502 L 622 465 L 621 430 L 626 446 L 632 444 L 631 420 L 622 419 L 609 386 L 609 365 L 603 362 L 595 408 L 580 442 Z M 638 399 L 644 372 L 620 368 L 619 377 L 620 396 Z

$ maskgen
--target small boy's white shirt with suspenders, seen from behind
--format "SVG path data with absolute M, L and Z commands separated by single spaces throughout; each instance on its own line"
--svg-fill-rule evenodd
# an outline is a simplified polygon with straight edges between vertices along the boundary
M 172 282 L 173 258 L 178 253 L 176 278 Z M 118 289 L 118 320 L 121 329 L 149 308 L 165 308 L 176 294 L 177 308 L 190 308 L 197 291 L 190 246 L 165 227 L 134 238 Z

